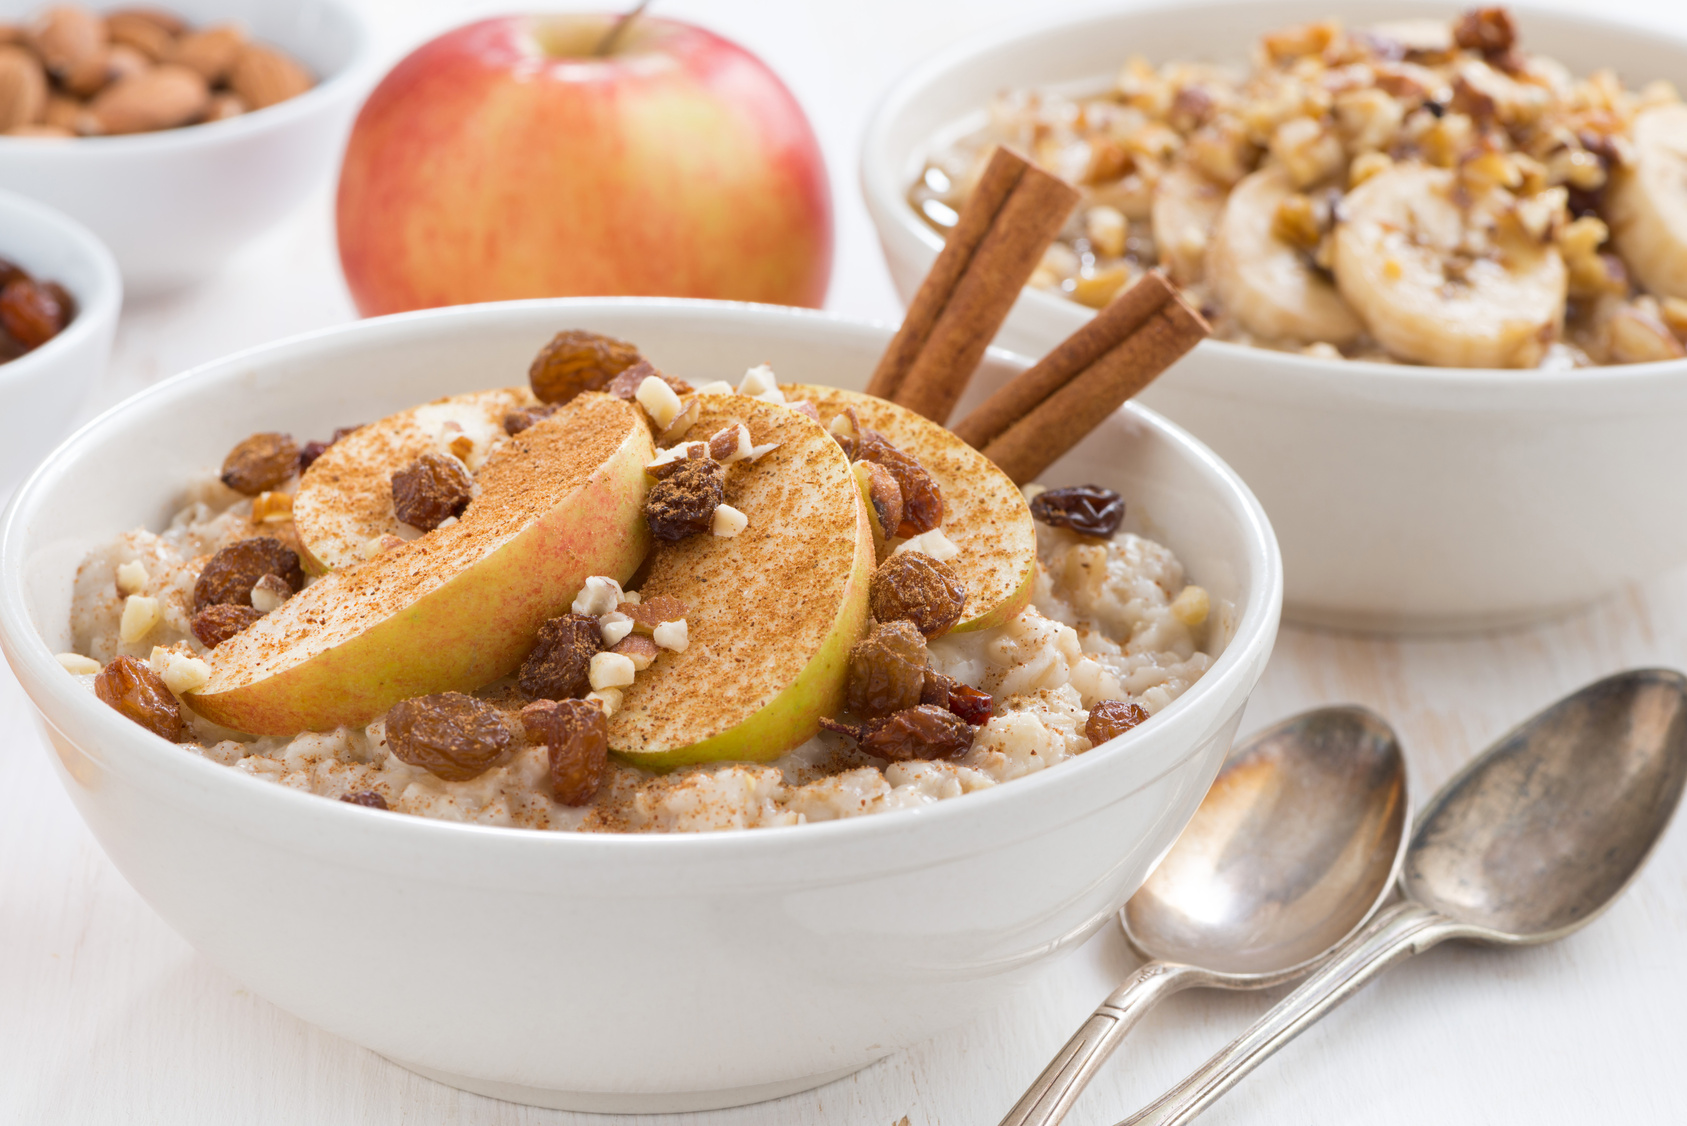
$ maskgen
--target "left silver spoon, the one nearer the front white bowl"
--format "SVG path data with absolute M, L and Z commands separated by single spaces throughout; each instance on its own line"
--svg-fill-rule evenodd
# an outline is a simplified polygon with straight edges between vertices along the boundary
M 1233 748 L 1171 853 L 1118 912 L 1151 959 L 1043 1070 L 1002 1126 L 1058 1123 L 1161 998 L 1294 981 L 1382 905 L 1410 836 L 1405 758 L 1361 707 L 1321 707 Z

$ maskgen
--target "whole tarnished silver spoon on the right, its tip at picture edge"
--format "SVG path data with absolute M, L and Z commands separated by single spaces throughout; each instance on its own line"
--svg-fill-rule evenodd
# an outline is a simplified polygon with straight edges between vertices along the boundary
M 1679 672 L 1623 672 L 1525 721 L 1429 804 L 1400 874 L 1405 900 L 1120 1126 L 1191 1121 L 1372 977 L 1439 942 L 1533 945 L 1586 927 L 1645 864 L 1684 783 Z

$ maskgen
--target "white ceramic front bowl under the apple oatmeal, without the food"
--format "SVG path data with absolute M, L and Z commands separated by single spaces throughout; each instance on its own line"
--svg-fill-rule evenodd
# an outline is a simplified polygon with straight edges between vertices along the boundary
M 800 1091 L 997 1004 L 1093 934 L 1183 829 L 1270 653 L 1280 569 L 1247 486 L 1152 414 L 1054 481 L 1097 479 L 1213 591 L 1223 652 L 1152 723 L 918 812 L 690 837 L 373 814 L 145 734 L 67 677 L 83 552 L 159 523 L 260 429 L 326 434 L 520 382 L 557 329 L 633 339 L 687 378 L 769 361 L 862 387 L 889 331 L 678 300 L 548 300 L 364 321 L 241 353 L 71 437 L 0 525 L 0 645 L 61 780 L 133 888 L 260 996 L 444 1082 L 594 1111 Z M 987 361 L 985 382 L 1016 370 Z

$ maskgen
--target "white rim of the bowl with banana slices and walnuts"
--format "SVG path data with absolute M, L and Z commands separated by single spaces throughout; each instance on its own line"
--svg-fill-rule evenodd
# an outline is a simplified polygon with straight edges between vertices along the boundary
M 1402 8 L 1402 17 L 1432 12 L 1444 15 L 1456 3 L 1439 0 L 1390 0 Z M 941 81 L 953 68 L 970 61 L 985 51 L 994 51 L 1007 44 L 1059 34 L 1076 34 L 1083 27 L 1095 24 L 1112 24 L 1117 19 L 1186 19 L 1196 20 L 1213 8 L 1237 10 L 1257 8 L 1250 0 L 1140 0 L 1127 7 L 1102 7 L 1075 12 L 1059 17 L 1024 17 L 997 25 L 962 39 L 930 56 L 896 81 L 881 98 L 862 130 L 860 142 L 860 187 L 867 198 L 869 209 L 891 216 L 904 233 L 914 235 L 933 253 L 943 250 L 943 240 L 926 223 L 914 214 L 904 199 L 906 184 L 899 179 L 899 171 L 886 167 L 877 160 L 877 154 L 889 147 L 887 133 L 896 125 L 897 116 L 909 103 L 919 101 L 923 93 Z M 1331 0 L 1331 10 L 1339 10 L 1339 0 Z M 1576 27 L 1616 32 L 1626 35 L 1645 35 L 1674 42 L 1682 49 L 1682 64 L 1687 68 L 1687 37 L 1665 25 L 1635 24 L 1618 17 L 1586 17 L 1569 8 L 1544 8 L 1532 3 L 1510 3 L 1518 24 L 1528 20 L 1552 20 Z M 1338 12 L 1339 14 L 1339 12 Z M 1527 27 L 1525 27 L 1527 30 Z M 1662 78 L 1662 76 L 1660 76 Z M 982 108 L 982 106 L 980 106 Z M 1046 312 L 1061 309 L 1083 309 L 1064 297 L 1054 297 L 1043 290 L 1026 287 L 1021 300 L 1032 309 Z M 1542 387 L 1566 390 L 1598 390 L 1609 393 L 1613 383 L 1616 390 L 1650 388 L 1660 382 L 1677 382 L 1687 376 L 1687 360 L 1658 360 L 1652 363 L 1613 363 L 1593 368 L 1540 370 L 1540 368 L 1436 368 L 1412 363 L 1377 363 L 1370 360 L 1324 360 L 1292 351 L 1275 351 L 1237 344 L 1232 341 L 1206 339 L 1198 344 L 1201 349 L 1216 351 L 1232 363 L 1260 363 L 1270 368 L 1274 378 L 1297 378 L 1309 383 L 1339 388 L 1351 382 L 1373 382 L 1382 385 L 1410 385 L 1439 390 L 1518 390 L 1533 392 Z M 1351 390 L 1351 388 L 1350 388 Z

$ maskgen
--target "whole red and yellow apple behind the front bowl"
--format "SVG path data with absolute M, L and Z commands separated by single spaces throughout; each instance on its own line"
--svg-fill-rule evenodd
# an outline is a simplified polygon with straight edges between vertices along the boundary
M 376 86 L 339 179 L 364 316 L 518 297 L 818 306 L 832 196 L 801 108 L 700 27 L 504 17 L 423 44 Z

